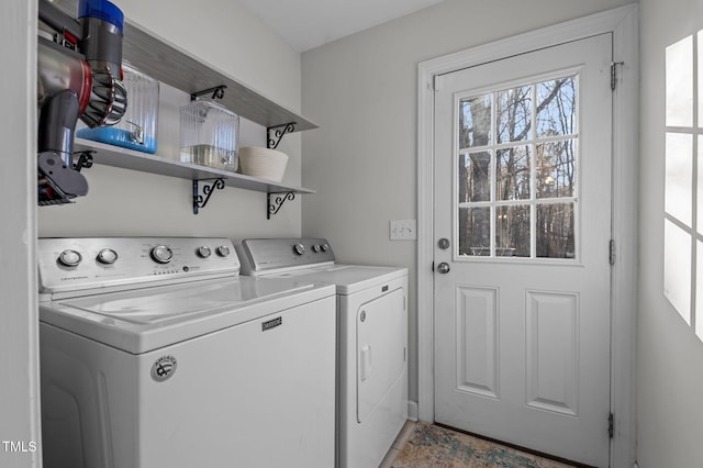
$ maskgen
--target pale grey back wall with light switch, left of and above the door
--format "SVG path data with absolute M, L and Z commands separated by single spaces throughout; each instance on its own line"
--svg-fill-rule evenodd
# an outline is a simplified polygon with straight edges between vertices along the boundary
M 388 223 L 416 218 L 417 64 L 627 3 L 446 0 L 302 54 L 303 114 L 321 126 L 303 135 L 303 186 L 324 194 L 304 200 L 303 234 L 327 237 L 343 261 L 410 268 L 411 400 L 416 250 L 390 242 Z

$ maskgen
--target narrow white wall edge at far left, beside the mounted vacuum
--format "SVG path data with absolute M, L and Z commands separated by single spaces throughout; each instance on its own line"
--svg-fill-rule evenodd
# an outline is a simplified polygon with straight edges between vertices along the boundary
M 36 4 L 2 3 L 0 136 L 5 169 L 0 171 L 0 466 L 41 466 L 38 322 L 36 309 Z M 19 110 L 13 112 L 10 110 Z M 7 443 L 14 443 L 13 450 Z M 23 444 L 26 452 L 22 452 Z M 36 449 L 31 450 L 30 443 Z

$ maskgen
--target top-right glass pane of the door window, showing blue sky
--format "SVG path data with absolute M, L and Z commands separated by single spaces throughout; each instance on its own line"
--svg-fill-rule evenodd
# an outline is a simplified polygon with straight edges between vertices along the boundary
M 576 133 L 576 77 L 538 82 L 537 137 Z

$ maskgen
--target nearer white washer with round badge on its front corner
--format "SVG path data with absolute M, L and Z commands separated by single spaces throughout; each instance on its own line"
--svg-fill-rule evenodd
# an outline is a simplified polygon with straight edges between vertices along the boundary
M 334 465 L 335 290 L 222 238 L 38 241 L 44 466 Z

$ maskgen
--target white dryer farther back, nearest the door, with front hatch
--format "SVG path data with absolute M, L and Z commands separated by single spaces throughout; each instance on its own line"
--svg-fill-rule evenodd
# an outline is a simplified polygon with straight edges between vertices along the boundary
M 408 270 L 335 264 L 322 238 L 235 244 L 242 275 L 336 286 L 337 467 L 377 468 L 408 420 Z

